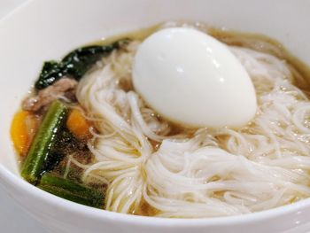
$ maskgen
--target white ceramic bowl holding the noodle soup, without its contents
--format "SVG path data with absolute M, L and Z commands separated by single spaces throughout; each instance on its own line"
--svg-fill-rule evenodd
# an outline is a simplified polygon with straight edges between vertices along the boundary
M 66 201 L 19 177 L 9 128 L 43 61 L 60 58 L 81 44 L 169 19 L 189 19 L 269 35 L 310 64 L 309 9 L 308 0 L 30 1 L 0 23 L 0 183 L 29 214 L 55 232 L 307 231 L 310 199 L 257 214 L 200 220 L 115 214 Z

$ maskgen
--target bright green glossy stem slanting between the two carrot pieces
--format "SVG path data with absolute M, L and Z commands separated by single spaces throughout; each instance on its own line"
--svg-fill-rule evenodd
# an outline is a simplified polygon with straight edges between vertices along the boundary
M 50 105 L 21 169 L 21 176 L 27 182 L 37 183 L 46 168 L 46 161 L 49 161 L 50 157 L 55 157 L 55 152 L 51 151 L 51 148 L 57 142 L 57 134 L 64 126 L 67 112 L 66 105 L 59 101 L 54 101 Z

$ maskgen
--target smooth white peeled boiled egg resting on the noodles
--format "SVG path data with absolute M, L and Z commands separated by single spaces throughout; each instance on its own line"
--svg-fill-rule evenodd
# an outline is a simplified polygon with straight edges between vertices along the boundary
M 136 91 L 157 113 L 190 127 L 241 127 L 252 120 L 255 89 L 227 45 L 196 29 L 162 29 L 140 45 Z

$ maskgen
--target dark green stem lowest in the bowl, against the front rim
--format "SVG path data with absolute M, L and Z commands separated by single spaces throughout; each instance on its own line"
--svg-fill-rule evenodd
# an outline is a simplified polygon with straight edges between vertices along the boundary
M 38 187 L 60 198 L 66 198 L 82 205 L 96 208 L 104 206 L 105 193 L 103 191 L 74 183 L 56 175 L 44 174 Z

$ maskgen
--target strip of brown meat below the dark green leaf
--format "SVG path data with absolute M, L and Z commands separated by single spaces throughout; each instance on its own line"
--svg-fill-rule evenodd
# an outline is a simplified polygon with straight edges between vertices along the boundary
M 74 79 L 64 77 L 50 87 L 40 90 L 37 96 L 28 97 L 22 107 L 26 111 L 36 112 L 55 99 L 66 97 L 67 93 L 70 93 L 69 96 L 75 96 L 72 94 L 75 94 L 77 83 Z

